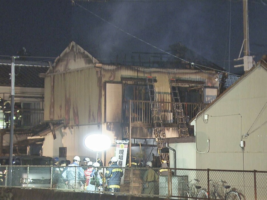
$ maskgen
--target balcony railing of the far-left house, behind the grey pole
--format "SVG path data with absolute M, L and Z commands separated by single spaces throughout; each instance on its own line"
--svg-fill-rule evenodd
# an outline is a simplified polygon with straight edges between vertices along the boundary
M 32 127 L 43 121 L 43 110 L 19 110 L 19 112 L 15 110 L 14 113 L 14 126 L 16 127 Z M 9 128 L 10 118 L 11 113 L 0 112 L 0 129 Z

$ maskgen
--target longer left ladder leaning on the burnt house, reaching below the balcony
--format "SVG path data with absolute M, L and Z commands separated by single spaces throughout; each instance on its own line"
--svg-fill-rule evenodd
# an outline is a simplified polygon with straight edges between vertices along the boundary
M 166 148 L 166 133 L 162 122 L 162 115 L 159 109 L 158 97 L 156 95 L 155 84 L 152 76 L 147 76 L 148 93 L 150 98 L 150 109 L 152 112 L 152 121 L 154 125 L 154 134 L 158 146 L 158 153 L 161 161 L 169 163 L 169 153 L 162 153 L 161 150 Z

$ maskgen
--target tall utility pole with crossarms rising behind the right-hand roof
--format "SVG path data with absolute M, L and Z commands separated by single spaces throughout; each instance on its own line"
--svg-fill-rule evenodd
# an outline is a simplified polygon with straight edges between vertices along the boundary
M 244 70 L 248 71 L 253 66 L 253 56 L 250 56 L 250 49 L 249 49 L 249 31 L 248 31 L 248 0 L 243 0 L 243 32 L 244 32 L 244 40 L 243 44 L 239 53 L 237 60 L 244 60 L 244 64 L 235 65 L 234 67 L 241 67 L 244 66 Z M 244 47 L 244 57 L 240 58 L 242 49 Z

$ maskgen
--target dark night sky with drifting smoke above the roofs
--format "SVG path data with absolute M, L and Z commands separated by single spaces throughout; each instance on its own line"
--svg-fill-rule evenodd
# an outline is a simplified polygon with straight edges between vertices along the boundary
M 249 0 L 248 9 L 250 54 L 257 62 L 267 54 L 267 0 Z M 161 52 L 146 43 L 168 51 L 180 42 L 226 70 L 230 53 L 230 72 L 242 70 L 233 68 L 244 38 L 241 0 L 0 0 L 0 22 L 0 59 L 22 47 L 31 56 L 56 57 L 74 41 L 109 62 L 117 54 L 130 59 L 132 52 Z

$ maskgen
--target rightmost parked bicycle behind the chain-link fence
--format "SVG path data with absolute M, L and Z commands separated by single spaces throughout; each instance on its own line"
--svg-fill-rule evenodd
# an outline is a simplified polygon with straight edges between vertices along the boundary
M 212 181 L 212 180 L 210 180 Z M 212 199 L 217 199 L 217 197 L 219 199 L 224 199 L 224 200 L 241 200 L 240 195 L 238 194 L 238 192 L 234 191 L 234 190 L 230 190 L 227 192 L 227 189 L 229 189 L 231 186 L 230 185 L 225 185 L 227 184 L 225 181 L 219 180 L 220 182 L 222 182 L 224 188 L 225 188 L 225 194 L 224 197 L 222 195 L 220 195 L 216 189 L 216 185 L 218 183 L 213 182 L 212 183 L 212 187 L 214 188 L 213 191 L 211 192 L 211 198 Z

